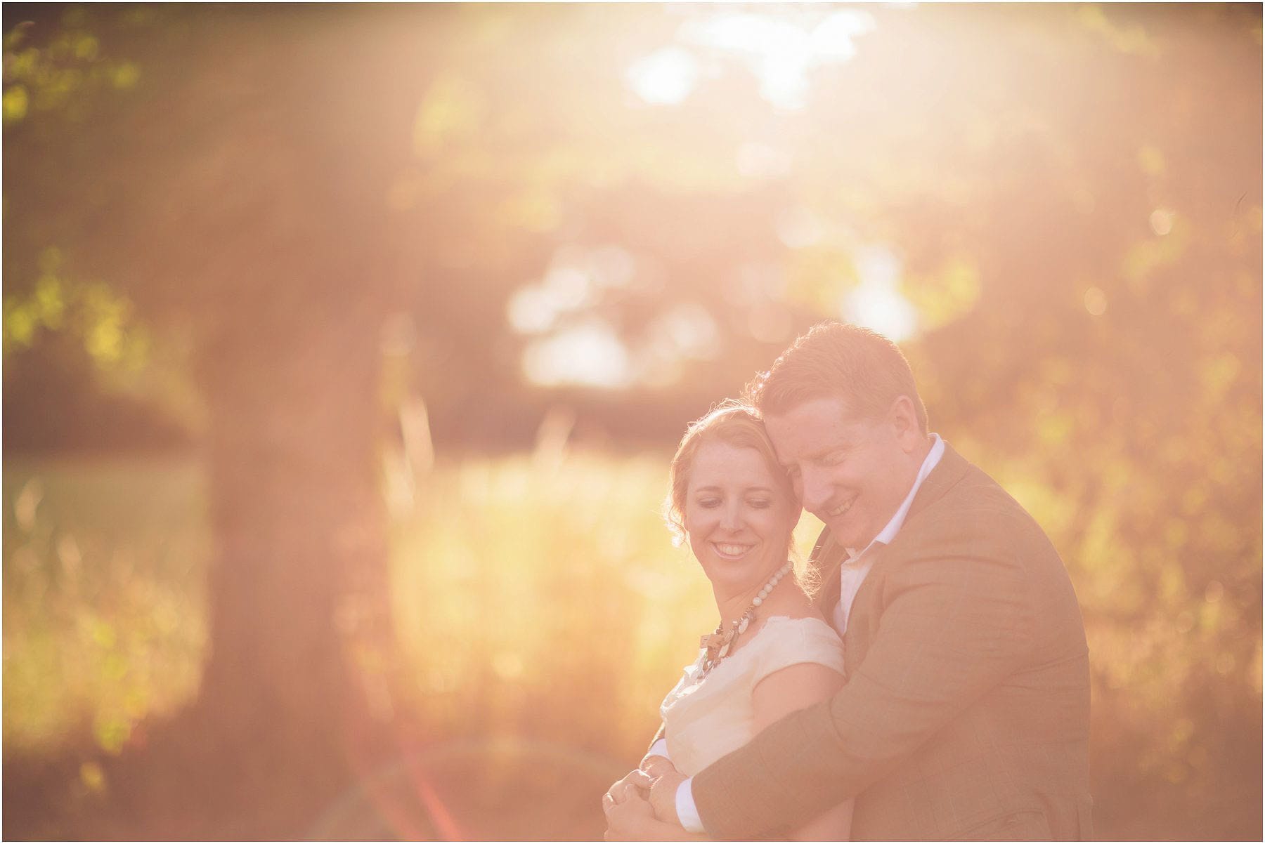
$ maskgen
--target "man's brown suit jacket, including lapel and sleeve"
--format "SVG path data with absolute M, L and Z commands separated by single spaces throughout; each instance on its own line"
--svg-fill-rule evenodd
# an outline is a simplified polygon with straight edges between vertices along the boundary
M 827 612 L 834 545 L 815 551 Z M 1085 629 L 1037 523 L 946 447 L 877 553 L 848 682 L 694 777 L 708 834 L 781 836 L 855 797 L 854 839 L 1090 838 Z

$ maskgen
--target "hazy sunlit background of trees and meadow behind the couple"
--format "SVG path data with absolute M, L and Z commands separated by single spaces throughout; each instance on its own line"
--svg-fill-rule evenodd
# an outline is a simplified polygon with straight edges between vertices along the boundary
M 672 449 L 842 317 L 1068 565 L 1098 834 L 1260 839 L 1259 5 L 4 39 L 5 838 L 601 838 Z

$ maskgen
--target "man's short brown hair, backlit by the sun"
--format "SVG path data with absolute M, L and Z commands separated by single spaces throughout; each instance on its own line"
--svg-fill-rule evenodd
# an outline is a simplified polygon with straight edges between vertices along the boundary
M 841 398 L 856 413 L 880 418 L 901 395 L 913 402 L 918 427 L 926 433 L 927 411 L 910 361 L 883 335 L 842 322 L 815 325 L 744 390 L 762 416 L 777 416 L 811 399 Z

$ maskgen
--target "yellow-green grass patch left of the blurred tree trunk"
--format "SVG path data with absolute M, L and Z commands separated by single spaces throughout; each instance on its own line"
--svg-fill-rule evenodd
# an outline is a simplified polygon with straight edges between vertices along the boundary
M 118 753 L 196 692 L 205 495 L 188 464 L 5 461 L 6 754 Z

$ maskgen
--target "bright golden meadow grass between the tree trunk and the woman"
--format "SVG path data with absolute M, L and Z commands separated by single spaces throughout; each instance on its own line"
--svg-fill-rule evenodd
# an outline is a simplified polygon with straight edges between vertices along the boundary
M 460 732 L 565 735 L 639 758 L 663 695 L 717 619 L 659 512 L 668 459 L 440 466 L 392 541 L 417 705 Z M 813 522 L 797 531 L 805 551 Z

